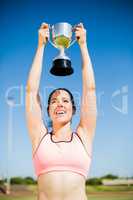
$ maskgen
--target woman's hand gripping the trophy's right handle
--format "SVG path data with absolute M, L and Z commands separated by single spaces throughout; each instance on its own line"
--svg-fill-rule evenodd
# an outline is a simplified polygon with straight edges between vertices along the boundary
M 75 36 L 80 46 L 86 44 L 86 29 L 84 28 L 83 24 L 80 23 L 75 26 Z

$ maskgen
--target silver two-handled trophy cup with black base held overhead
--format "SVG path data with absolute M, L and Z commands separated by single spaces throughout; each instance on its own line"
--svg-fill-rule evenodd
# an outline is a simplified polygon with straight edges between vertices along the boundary
M 55 76 L 67 76 L 73 73 L 71 66 L 71 60 L 65 55 L 65 49 L 69 48 L 76 41 L 72 41 L 73 27 L 65 22 L 57 23 L 50 27 L 52 34 L 52 41 L 49 42 L 57 49 L 60 53 L 53 59 L 53 65 L 50 73 Z

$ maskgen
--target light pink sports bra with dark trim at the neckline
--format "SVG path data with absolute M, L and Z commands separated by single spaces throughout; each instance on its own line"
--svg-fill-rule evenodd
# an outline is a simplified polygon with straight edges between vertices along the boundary
M 87 178 L 91 164 L 91 147 L 88 154 L 77 133 L 72 133 L 70 141 L 54 141 L 51 133 L 46 133 L 34 155 L 33 164 L 37 176 L 50 171 L 72 171 Z

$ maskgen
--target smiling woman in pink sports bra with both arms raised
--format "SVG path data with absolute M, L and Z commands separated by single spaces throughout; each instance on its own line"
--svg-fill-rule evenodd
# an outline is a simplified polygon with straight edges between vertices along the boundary
M 26 117 L 32 143 L 33 162 L 38 176 L 38 200 L 87 200 L 85 180 L 91 164 L 91 149 L 96 126 L 96 95 L 86 30 L 75 28 L 82 55 L 82 104 L 75 133 L 71 119 L 76 108 L 72 94 L 63 88 L 53 91 L 48 100 L 52 132 L 43 123 L 39 84 L 44 47 L 49 38 L 48 24 L 39 29 L 38 48 L 26 90 Z

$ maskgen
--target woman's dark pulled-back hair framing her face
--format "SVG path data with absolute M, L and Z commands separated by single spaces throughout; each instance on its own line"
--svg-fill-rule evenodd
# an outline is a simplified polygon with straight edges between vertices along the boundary
M 49 105 L 50 105 L 51 97 L 58 90 L 64 90 L 64 91 L 66 91 L 69 94 L 70 100 L 71 100 L 71 103 L 72 103 L 73 114 L 75 114 L 75 112 L 76 112 L 76 106 L 75 106 L 75 102 L 74 102 L 74 98 L 73 98 L 72 93 L 68 89 L 66 89 L 66 88 L 57 88 L 57 89 L 53 90 L 50 93 L 50 95 L 49 95 L 49 98 L 48 98 L 48 107 L 47 107 L 48 115 L 49 115 Z

